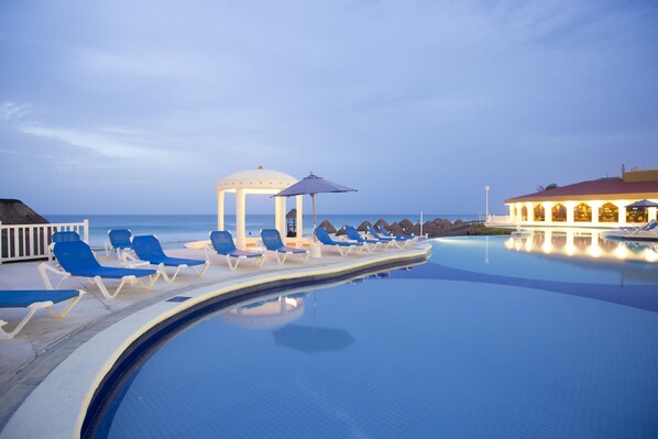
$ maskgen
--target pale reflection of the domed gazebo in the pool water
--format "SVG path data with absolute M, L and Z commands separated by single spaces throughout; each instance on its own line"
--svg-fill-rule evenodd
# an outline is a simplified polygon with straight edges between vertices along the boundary
M 218 315 L 226 323 L 252 329 L 274 328 L 304 315 L 305 294 L 278 296 L 230 308 Z

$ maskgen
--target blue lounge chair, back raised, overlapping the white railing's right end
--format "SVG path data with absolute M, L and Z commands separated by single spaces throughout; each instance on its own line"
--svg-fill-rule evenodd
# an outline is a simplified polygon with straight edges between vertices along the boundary
M 72 276 L 89 277 L 90 279 L 94 279 L 102 295 L 108 299 L 117 297 L 127 282 L 136 281 L 142 287 L 150 289 L 157 277 L 160 277 L 160 272 L 156 270 L 102 266 L 98 263 L 91 249 L 85 241 L 58 242 L 55 244 L 53 252 L 62 268 L 54 267 L 45 262 L 39 266 L 39 273 L 47 289 L 54 289 L 51 279 L 47 276 L 48 271 L 62 276 L 62 279 L 59 279 L 55 288 L 58 288 L 64 279 Z M 147 284 L 142 281 L 142 277 L 146 276 L 150 278 Z M 120 279 L 121 283 L 114 293 L 110 293 L 102 282 L 103 278 Z

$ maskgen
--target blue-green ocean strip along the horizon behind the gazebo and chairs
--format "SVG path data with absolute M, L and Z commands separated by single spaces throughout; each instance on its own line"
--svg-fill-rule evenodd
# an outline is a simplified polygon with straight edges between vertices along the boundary
M 208 233 L 217 229 L 216 215 L 45 215 L 51 222 L 80 222 L 89 220 L 89 245 L 103 246 L 108 240 L 110 229 L 130 229 L 132 234 L 155 234 L 167 248 L 180 248 L 185 242 L 208 239 Z M 420 220 L 418 213 L 363 213 L 363 215 L 318 215 L 318 224 L 329 220 L 333 227 L 340 229 L 344 224 L 358 227 L 363 221 L 375 222 L 379 219 L 399 222 L 403 219 L 412 222 Z M 478 215 L 428 215 L 424 213 L 423 221 L 445 218 L 451 221 L 457 219 L 476 220 Z M 227 230 L 234 233 L 235 216 L 227 215 L 224 218 Z M 274 227 L 274 215 L 248 215 L 246 234 L 257 237 L 261 229 Z M 304 216 L 304 233 L 310 233 L 312 220 L 310 215 Z

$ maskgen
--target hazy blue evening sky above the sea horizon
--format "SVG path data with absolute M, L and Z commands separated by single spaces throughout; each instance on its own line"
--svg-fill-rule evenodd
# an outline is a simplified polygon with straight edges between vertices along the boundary
M 358 189 L 320 213 L 504 213 L 658 168 L 656 42 L 656 1 L 2 0 L 0 198 L 213 213 L 263 165 Z

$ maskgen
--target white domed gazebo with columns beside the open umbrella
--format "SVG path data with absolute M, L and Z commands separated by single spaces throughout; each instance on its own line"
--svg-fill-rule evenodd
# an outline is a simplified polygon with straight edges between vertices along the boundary
M 235 194 L 235 245 L 240 249 L 246 246 L 245 237 L 245 198 L 246 195 L 274 195 L 282 189 L 297 183 L 288 174 L 265 169 L 259 166 L 255 169 L 242 171 L 231 174 L 217 182 L 217 230 L 224 230 L 224 194 Z M 301 243 L 303 209 L 301 195 L 297 197 L 297 244 Z M 274 228 L 282 238 L 286 237 L 286 198 L 274 198 Z

